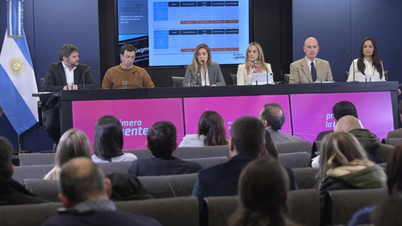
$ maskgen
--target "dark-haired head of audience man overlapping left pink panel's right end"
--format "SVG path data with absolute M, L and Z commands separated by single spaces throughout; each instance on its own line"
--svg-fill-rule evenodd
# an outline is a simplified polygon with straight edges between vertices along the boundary
M 147 133 L 147 147 L 155 157 L 169 157 L 177 148 L 176 138 L 176 127 L 171 122 L 157 122 Z

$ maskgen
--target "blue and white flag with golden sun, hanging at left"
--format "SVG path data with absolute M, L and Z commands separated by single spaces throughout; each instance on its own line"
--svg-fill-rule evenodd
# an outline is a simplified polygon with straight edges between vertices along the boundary
M 6 0 L 7 31 L 0 53 L 0 104 L 18 135 L 38 122 L 39 97 L 23 27 L 24 0 Z

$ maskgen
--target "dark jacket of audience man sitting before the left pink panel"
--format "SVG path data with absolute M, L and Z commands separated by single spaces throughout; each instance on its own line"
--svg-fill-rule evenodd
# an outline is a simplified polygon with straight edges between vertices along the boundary
M 174 156 L 137 159 L 131 163 L 129 174 L 134 176 L 160 176 L 196 173 L 203 167 L 195 162 L 188 162 Z

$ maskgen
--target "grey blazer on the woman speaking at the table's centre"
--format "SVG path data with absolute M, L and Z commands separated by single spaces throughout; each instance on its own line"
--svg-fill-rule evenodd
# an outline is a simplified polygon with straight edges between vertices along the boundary
M 184 80 L 183 80 L 183 87 L 187 87 L 188 85 L 188 80 L 189 79 L 194 79 L 195 83 L 199 86 L 205 86 L 203 83 L 203 78 L 201 77 L 201 68 L 198 67 L 197 73 L 195 73 L 195 76 L 193 75 L 194 68 L 187 66 L 187 70 L 185 72 Z M 219 64 L 215 63 L 213 65 L 208 65 L 208 76 L 210 78 L 210 84 L 216 83 L 218 86 L 224 86 L 226 85 L 225 80 L 223 79 L 223 75 L 221 72 L 221 68 L 219 67 Z

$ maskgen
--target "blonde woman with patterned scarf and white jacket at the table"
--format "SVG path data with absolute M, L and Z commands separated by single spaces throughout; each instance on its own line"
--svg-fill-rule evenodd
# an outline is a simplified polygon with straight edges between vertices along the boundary
M 246 51 L 246 61 L 240 64 L 237 69 L 237 85 L 251 85 L 251 75 L 253 73 L 271 73 L 271 65 L 265 63 L 264 53 L 258 42 L 248 45 Z

